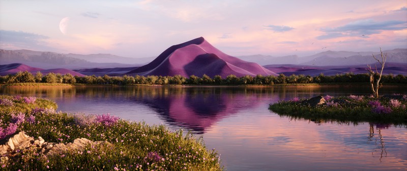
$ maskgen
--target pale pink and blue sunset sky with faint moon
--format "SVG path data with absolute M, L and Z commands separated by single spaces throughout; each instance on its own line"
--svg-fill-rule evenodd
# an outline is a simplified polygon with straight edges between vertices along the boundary
M 407 1 L 0 0 L 0 49 L 156 57 L 204 37 L 231 56 L 407 48 Z

